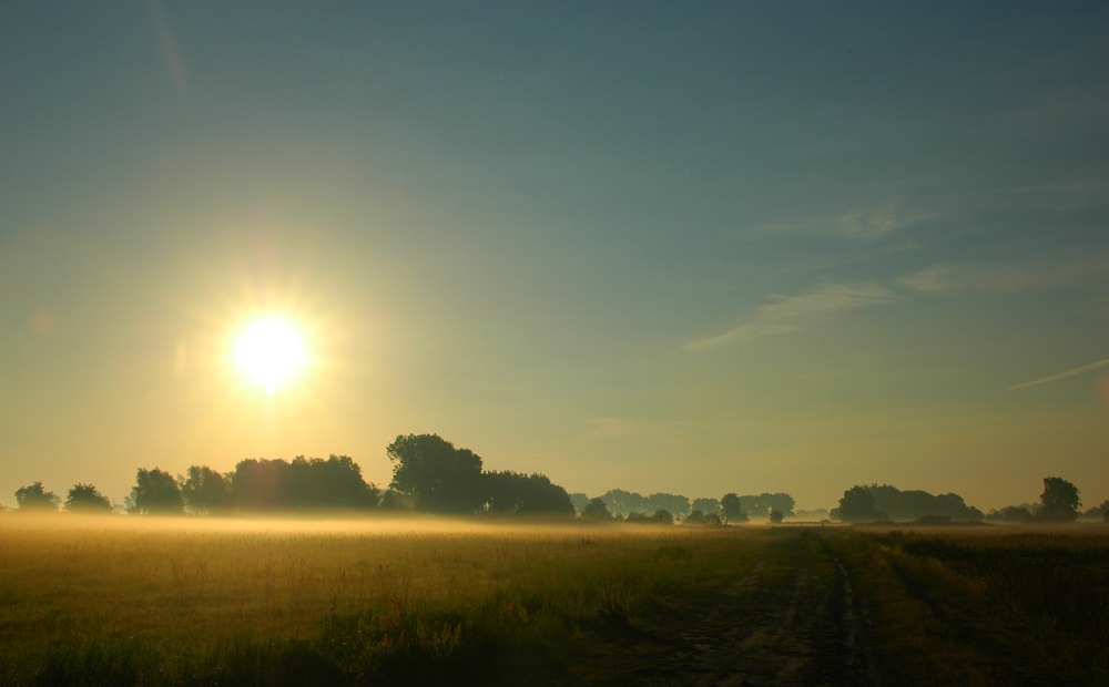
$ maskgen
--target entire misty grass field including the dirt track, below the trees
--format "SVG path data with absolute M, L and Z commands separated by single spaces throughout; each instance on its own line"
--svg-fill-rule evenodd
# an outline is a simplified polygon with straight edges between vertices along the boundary
M 1109 529 L 0 517 L 6 685 L 1105 685 Z

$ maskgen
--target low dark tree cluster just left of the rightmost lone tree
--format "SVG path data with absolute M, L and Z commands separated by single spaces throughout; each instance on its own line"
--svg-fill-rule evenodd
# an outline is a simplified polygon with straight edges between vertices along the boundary
M 967 505 L 958 494 L 902 491 L 888 484 L 852 486 L 844 492 L 840 507 L 832 510 L 832 517 L 844 522 L 908 521 L 929 516 L 954 521 L 980 521 L 984 517 L 981 511 Z

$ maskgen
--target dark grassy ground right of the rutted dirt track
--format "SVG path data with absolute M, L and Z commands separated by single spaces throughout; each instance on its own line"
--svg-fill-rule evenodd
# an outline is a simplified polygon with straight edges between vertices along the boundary
M 893 681 L 1109 684 L 1105 529 L 859 529 L 833 541 Z

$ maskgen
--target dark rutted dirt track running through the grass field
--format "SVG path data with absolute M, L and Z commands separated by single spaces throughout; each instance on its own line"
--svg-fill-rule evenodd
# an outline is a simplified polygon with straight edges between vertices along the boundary
M 847 567 L 820 541 L 767 548 L 708 599 L 682 633 L 672 678 L 660 685 L 881 685 L 859 633 Z

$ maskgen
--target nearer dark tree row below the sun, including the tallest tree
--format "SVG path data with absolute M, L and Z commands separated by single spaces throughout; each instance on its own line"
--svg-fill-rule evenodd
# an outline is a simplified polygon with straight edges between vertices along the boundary
M 230 472 L 192 465 L 173 475 L 140 468 L 124 499 L 138 514 L 224 514 L 307 510 L 413 510 L 428 513 L 509 515 L 574 514 L 567 491 L 545 474 L 482 470 L 481 457 L 456 449 L 438 434 L 399 435 L 386 448 L 394 464 L 387 489 L 366 482 L 347 455 L 246 459 Z M 77 484 L 64 504 L 34 482 L 16 492 L 21 511 L 112 512 L 92 484 Z

